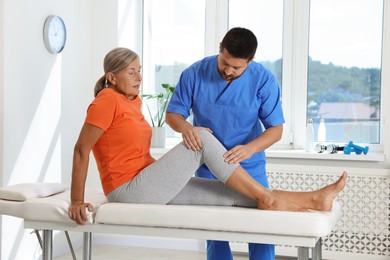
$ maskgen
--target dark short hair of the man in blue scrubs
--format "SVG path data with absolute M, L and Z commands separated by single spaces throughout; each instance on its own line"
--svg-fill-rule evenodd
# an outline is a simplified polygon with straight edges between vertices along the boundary
M 220 45 L 220 51 L 226 49 L 235 58 L 253 59 L 257 49 L 257 39 L 254 33 L 242 27 L 230 29 Z

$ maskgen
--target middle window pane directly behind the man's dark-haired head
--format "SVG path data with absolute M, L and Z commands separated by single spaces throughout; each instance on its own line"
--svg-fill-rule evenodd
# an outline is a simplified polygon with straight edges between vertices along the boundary
M 229 28 L 245 27 L 257 37 L 255 61 L 282 83 L 283 0 L 229 0 Z

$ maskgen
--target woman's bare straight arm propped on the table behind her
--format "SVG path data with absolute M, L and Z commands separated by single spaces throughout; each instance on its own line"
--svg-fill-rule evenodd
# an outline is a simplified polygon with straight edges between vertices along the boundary
M 88 173 L 89 155 L 92 147 L 103 135 L 104 130 L 84 123 L 73 152 L 71 205 L 68 210 L 69 218 L 78 224 L 88 220 L 85 209 L 92 211 L 92 205 L 84 203 L 85 182 Z

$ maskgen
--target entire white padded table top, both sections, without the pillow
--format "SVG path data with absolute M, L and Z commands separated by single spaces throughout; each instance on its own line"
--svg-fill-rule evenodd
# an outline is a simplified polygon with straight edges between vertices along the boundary
M 193 206 L 106 203 L 100 189 L 86 189 L 85 201 L 94 206 L 95 224 L 188 228 L 228 232 L 278 235 L 328 235 L 340 217 L 340 206 L 331 212 L 286 212 L 257 209 Z M 68 217 L 69 190 L 45 198 L 25 201 L 0 200 L 0 214 L 27 221 L 75 224 Z

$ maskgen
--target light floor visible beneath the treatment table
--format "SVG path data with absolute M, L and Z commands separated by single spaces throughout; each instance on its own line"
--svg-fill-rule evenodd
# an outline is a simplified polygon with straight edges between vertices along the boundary
M 81 249 L 76 250 L 77 259 L 82 259 Z M 172 249 L 129 248 L 122 246 L 94 245 L 93 260 L 205 260 L 204 252 L 180 251 Z M 247 260 L 244 253 L 236 254 L 234 260 Z M 288 258 L 277 258 L 277 260 Z M 290 258 L 291 259 L 291 258 Z M 54 257 L 54 260 L 72 260 L 71 254 Z

